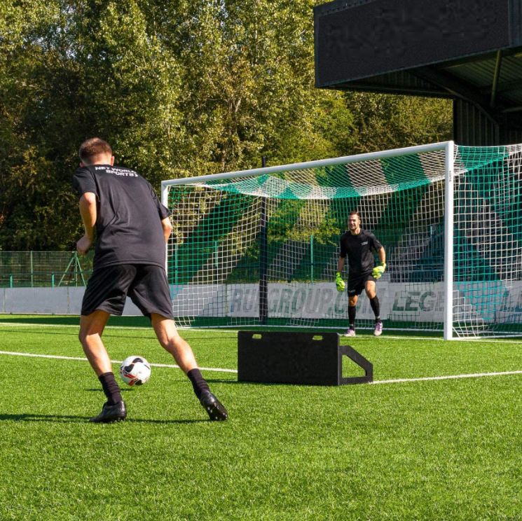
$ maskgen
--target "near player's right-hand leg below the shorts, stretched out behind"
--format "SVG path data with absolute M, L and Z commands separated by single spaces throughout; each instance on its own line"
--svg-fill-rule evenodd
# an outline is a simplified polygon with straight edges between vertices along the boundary
M 212 421 L 227 419 L 226 408 L 210 391 L 195 361 L 191 346 L 179 335 L 174 320 L 158 313 L 151 313 L 151 322 L 160 345 L 172 354 L 177 365 L 191 380 L 195 396 L 198 397 L 210 419 Z

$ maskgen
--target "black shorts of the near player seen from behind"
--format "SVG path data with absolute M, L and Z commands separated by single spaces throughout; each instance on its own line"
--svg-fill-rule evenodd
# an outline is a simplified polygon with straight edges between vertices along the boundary
M 150 264 L 118 264 L 95 270 L 83 295 L 81 314 L 104 310 L 121 315 L 126 297 L 146 317 L 158 313 L 174 318 L 165 269 Z

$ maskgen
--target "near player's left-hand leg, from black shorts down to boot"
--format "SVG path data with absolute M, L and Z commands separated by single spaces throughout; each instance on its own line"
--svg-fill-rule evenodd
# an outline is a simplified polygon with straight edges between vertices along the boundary
M 125 402 L 114 377 L 109 354 L 102 342 L 102 334 L 109 316 L 121 315 L 123 312 L 127 289 L 134 275 L 133 270 L 134 268 L 128 265 L 95 270 L 83 296 L 79 338 L 83 352 L 107 396 L 102 412 L 91 418 L 91 422 L 107 423 L 127 417 Z

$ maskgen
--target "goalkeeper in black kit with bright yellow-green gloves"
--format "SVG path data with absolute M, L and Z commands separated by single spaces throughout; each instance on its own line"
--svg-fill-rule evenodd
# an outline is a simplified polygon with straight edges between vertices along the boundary
M 375 235 L 361 228 L 361 216 L 357 211 L 350 211 L 348 216 L 348 232 L 341 236 L 341 253 L 337 262 L 336 286 L 337 291 L 344 291 L 345 283 L 341 277 L 348 256 L 348 321 L 350 328 L 343 336 L 355 336 L 355 312 L 357 297 L 364 289 L 370 299 L 371 309 L 375 314 L 375 328 L 373 334 L 380 336 L 383 333 L 383 322 L 380 320 L 379 299 L 376 295 L 376 279 L 383 275 L 386 269 L 386 253 L 383 245 Z M 374 265 L 372 249 L 378 253 L 378 265 Z

